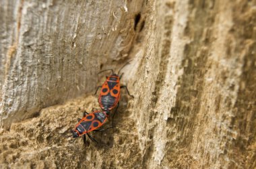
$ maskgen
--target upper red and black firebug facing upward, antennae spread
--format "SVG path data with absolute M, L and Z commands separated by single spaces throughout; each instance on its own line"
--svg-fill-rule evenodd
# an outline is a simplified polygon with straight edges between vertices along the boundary
M 129 64 L 129 62 L 127 64 Z M 127 64 L 125 64 L 124 66 L 126 66 Z M 117 107 L 117 109 L 118 109 L 119 99 L 120 99 L 120 89 L 122 89 L 122 88 L 125 88 L 128 95 L 133 97 L 133 95 L 130 95 L 130 93 L 127 89 L 127 86 L 120 85 L 120 80 L 123 76 L 123 74 L 121 74 L 121 76 L 119 76 L 120 70 L 117 74 L 114 73 L 113 69 L 107 69 L 107 70 L 111 70 L 112 74 L 110 76 L 106 76 L 105 82 L 102 84 L 102 86 L 98 86 L 96 92 L 94 93 L 94 95 L 96 95 L 98 89 L 102 88 L 100 91 L 100 95 L 98 97 L 98 103 L 100 103 L 100 107 L 103 111 L 111 111 L 115 107 Z M 102 71 L 98 72 L 98 74 L 101 72 L 107 71 L 107 70 L 102 70 Z M 117 109 L 116 109 L 116 111 L 117 111 Z

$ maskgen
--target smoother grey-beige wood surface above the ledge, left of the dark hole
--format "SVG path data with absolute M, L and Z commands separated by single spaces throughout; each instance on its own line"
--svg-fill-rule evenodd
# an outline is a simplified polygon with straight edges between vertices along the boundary
M 100 65 L 127 58 L 140 4 L 1 1 L 2 126 L 91 92 Z

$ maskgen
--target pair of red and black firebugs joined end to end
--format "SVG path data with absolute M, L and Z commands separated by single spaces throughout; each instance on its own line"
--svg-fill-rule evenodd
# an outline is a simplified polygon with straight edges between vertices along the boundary
M 125 64 L 124 66 L 126 66 L 127 64 Z M 88 137 L 92 141 L 97 142 L 96 139 L 94 139 L 88 133 L 90 131 L 105 131 L 106 130 L 106 129 L 98 129 L 98 128 L 101 127 L 106 122 L 106 119 L 108 119 L 110 112 L 115 107 L 117 107 L 115 110 L 115 113 L 117 112 L 117 109 L 119 107 L 120 89 L 125 88 L 128 95 L 133 97 L 132 95 L 130 95 L 130 93 L 127 89 L 127 86 L 120 85 L 120 80 L 123 76 L 123 74 L 121 74 L 121 76 L 119 76 L 120 70 L 117 74 L 115 74 L 112 69 L 108 69 L 108 70 L 111 70 L 112 74 L 110 76 L 106 76 L 106 80 L 105 80 L 104 84 L 102 84 L 102 86 L 98 86 L 96 89 L 96 92 L 94 94 L 94 95 L 96 95 L 98 89 L 102 88 L 100 91 L 100 95 L 98 97 L 98 103 L 100 104 L 102 111 L 94 111 L 92 113 L 85 112 L 84 117 L 82 119 L 78 119 L 78 123 L 77 123 L 77 125 L 75 125 L 75 130 L 71 131 L 71 133 L 72 133 L 71 136 L 79 137 L 80 135 L 87 134 Z M 101 72 L 104 72 L 104 71 L 107 71 L 107 70 L 102 70 Z M 101 72 L 98 72 L 98 74 Z M 115 115 L 115 113 L 114 113 L 114 115 Z M 109 128 L 112 128 L 112 127 L 109 127 Z M 109 129 L 109 128 L 107 128 L 107 129 Z M 86 142 L 85 135 L 84 135 L 84 142 Z

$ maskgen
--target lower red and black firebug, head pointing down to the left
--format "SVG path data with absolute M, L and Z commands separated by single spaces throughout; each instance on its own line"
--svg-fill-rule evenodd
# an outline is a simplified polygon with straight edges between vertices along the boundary
M 104 131 L 106 129 L 98 129 L 101 127 L 108 119 L 109 111 L 94 111 L 92 113 L 84 112 L 84 117 L 82 119 L 77 119 L 78 123 L 75 125 L 75 129 L 71 131 L 74 138 L 79 137 L 81 135 L 87 134 L 88 137 L 93 141 L 96 142 L 91 135 L 88 133 L 90 131 Z M 86 135 L 84 135 L 84 143 L 86 143 Z

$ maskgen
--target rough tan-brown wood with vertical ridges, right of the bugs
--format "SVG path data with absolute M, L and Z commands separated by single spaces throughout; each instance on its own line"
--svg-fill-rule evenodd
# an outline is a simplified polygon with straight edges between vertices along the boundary
M 255 1 L 151 5 L 132 75 L 143 168 L 255 168 Z

